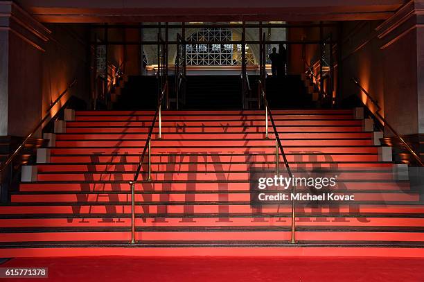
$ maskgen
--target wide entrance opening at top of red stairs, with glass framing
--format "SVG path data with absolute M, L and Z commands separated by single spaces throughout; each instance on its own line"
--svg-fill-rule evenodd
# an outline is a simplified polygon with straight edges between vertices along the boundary
M 166 84 L 167 109 L 258 109 L 262 89 L 274 108 L 330 107 L 337 98 L 335 42 L 331 35 L 297 39 L 303 28 L 328 26 L 333 25 L 269 21 L 92 26 L 91 43 L 97 50 L 94 106 L 154 109 Z M 274 47 L 287 49 L 287 76 L 272 78 Z M 314 64 L 306 49 L 319 50 Z M 125 64 L 109 64 L 116 52 L 123 53 Z M 119 95 L 111 93 L 116 78 L 125 80 L 118 85 L 123 88 Z

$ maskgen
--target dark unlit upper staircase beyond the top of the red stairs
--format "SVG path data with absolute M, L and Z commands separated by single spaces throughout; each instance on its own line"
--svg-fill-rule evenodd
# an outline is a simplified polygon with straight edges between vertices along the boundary
M 259 76 L 249 76 L 250 97 L 258 96 Z M 168 77 L 170 97 L 175 97 L 175 77 Z M 267 99 L 274 109 L 312 108 L 301 76 L 267 78 Z M 179 109 L 241 109 L 242 80 L 240 76 L 187 76 L 186 94 L 180 94 Z M 155 109 L 157 78 L 130 76 L 114 109 Z M 257 105 L 257 103 L 256 103 Z M 254 107 L 251 105 L 251 107 Z M 175 106 L 171 106 L 175 108 Z

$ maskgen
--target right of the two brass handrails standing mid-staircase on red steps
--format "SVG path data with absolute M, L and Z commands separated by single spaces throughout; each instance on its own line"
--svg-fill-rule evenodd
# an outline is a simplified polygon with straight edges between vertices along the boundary
M 276 146 L 279 147 L 281 155 L 283 156 L 284 165 L 285 165 L 285 168 L 287 169 L 289 177 L 291 177 L 293 179 L 292 170 L 290 169 L 290 165 L 288 163 L 287 156 L 285 155 L 283 145 L 281 145 L 281 139 L 280 139 L 280 136 L 279 136 L 279 132 L 276 128 L 274 118 L 272 117 L 272 112 L 271 112 L 270 106 L 268 105 L 267 97 L 266 97 L 266 94 L 265 94 L 265 91 L 264 91 L 262 85 L 263 85 L 263 82 L 261 80 L 259 80 L 258 87 L 259 87 L 260 94 L 263 98 L 263 105 L 265 106 L 266 127 L 268 127 L 268 116 L 270 116 L 271 125 L 272 125 L 272 128 L 274 129 Z M 267 128 L 266 128 L 266 131 L 268 132 Z M 268 136 L 268 134 L 266 134 L 266 136 Z M 277 153 L 276 156 L 278 157 L 278 151 L 276 153 Z M 279 163 L 279 161 L 277 159 L 277 161 L 276 161 L 277 171 L 278 171 L 278 163 Z M 293 185 L 293 188 L 292 188 L 292 193 L 293 194 L 296 193 L 296 186 L 294 186 L 294 185 Z M 295 208 L 296 208 L 296 206 L 294 205 L 294 200 L 292 200 L 292 234 L 291 234 L 291 240 L 290 240 L 291 243 L 296 243 L 296 240 L 294 238 L 295 231 L 296 231 L 296 221 L 295 221 L 296 220 L 296 209 Z

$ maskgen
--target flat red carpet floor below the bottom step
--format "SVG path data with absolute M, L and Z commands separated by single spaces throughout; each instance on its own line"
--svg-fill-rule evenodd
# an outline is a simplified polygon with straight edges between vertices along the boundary
M 0 267 L 48 267 L 49 275 L 1 281 L 424 281 L 420 258 L 15 258 Z

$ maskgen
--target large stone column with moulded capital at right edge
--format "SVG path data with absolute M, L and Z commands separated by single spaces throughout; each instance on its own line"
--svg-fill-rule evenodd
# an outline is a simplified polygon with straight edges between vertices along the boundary
M 422 134 L 424 1 L 409 1 L 376 30 L 381 41 L 385 118 L 399 134 Z

